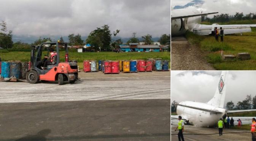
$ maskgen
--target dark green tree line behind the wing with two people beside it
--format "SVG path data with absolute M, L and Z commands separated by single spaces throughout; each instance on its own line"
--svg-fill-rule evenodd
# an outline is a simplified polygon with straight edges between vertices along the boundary
M 202 22 L 230 22 L 232 20 L 254 20 L 256 19 L 256 13 L 243 14 L 243 12 L 236 12 L 235 15 L 229 14 L 219 14 L 214 15 L 213 18 L 207 17 L 207 15 L 202 16 Z

